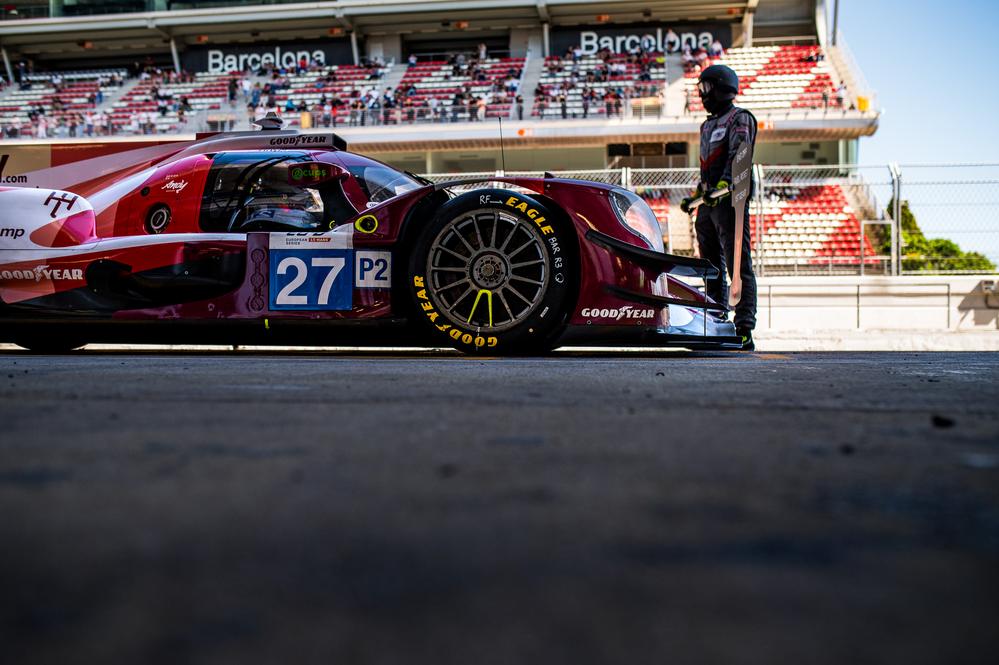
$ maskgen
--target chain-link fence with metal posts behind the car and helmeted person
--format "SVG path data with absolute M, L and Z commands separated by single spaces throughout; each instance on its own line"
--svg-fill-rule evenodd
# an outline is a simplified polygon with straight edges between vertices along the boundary
M 426 177 L 443 182 L 496 175 Z M 507 175 L 543 174 L 508 171 Z M 553 175 L 636 192 L 659 218 L 668 251 L 697 253 L 693 219 L 680 211 L 680 201 L 697 187 L 698 169 L 622 168 Z M 975 274 L 995 272 L 999 263 L 999 165 L 758 165 L 754 184 L 749 222 L 760 274 Z

